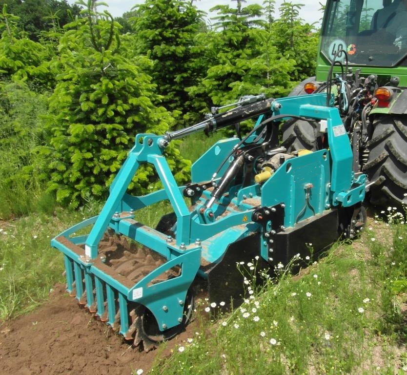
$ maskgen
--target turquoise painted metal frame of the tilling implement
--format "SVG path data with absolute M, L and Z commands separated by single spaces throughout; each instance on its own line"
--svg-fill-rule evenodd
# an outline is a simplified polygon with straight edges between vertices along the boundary
M 227 194 L 211 208 L 213 217 L 210 219 L 202 213 L 210 191 L 203 191 L 194 207 L 188 208 L 183 197 L 184 186 L 177 185 L 163 156 L 163 137 L 138 134 L 101 213 L 51 241 L 52 246 L 64 254 L 67 290 L 112 326 L 117 324 L 116 316 L 120 315 L 120 333 L 125 337 L 131 333 L 128 305 L 132 303 L 150 310 L 158 328 L 165 331 L 182 321 L 186 293 L 196 275 L 205 277 L 200 269 L 202 260 L 206 264 L 217 263 L 229 244 L 253 232 L 262 232 L 263 227 L 251 221 L 255 207 L 284 204 L 284 225 L 288 228 L 332 206 L 348 207 L 363 201 L 366 176 L 354 176 L 349 137 L 338 109 L 326 107 L 325 103 L 325 93 L 273 102 L 271 115 L 326 120 L 329 149 L 286 160 L 263 185 L 254 181 L 244 188 L 232 184 Z M 257 125 L 262 119 L 263 116 Z M 236 138 L 219 141 L 207 150 L 191 168 L 192 182 L 209 181 L 213 169 L 208 166 L 217 166 L 238 142 Z M 141 197 L 131 196 L 126 189 L 142 163 L 155 167 L 163 189 Z M 227 163 L 218 175 L 222 176 L 226 168 Z M 176 235 L 170 239 L 134 220 L 135 211 L 165 199 L 170 201 L 177 218 Z M 268 227 L 271 224 L 268 223 Z M 74 236 L 88 226 L 91 226 L 88 235 Z M 107 228 L 156 251 L 167 262 L 136 284 L 120 275 L 112 276 L 98 258 L 98 244 Z M 259 255 L 269 260 L 265 241 Z M 150 285 L 158 275 L 174 266 L 180 267 L 180 276 Z

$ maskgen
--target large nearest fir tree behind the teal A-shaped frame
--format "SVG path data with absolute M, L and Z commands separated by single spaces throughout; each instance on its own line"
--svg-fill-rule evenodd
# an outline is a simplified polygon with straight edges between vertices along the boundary
M 122 46 L 118 23 L 94 6 L 89 0 L 85 17 L 68 24 L 61 37 L 60 56 L 53 62 L 61 74 L 46 122 L 51 140 L 40 149 L 49 170 L 49 191 L 73 207 L 88 195 L 106 196 L 137 133 L 163 134 L 173 121 L 163 107 L 153 104 L 160 98 L 152 94 L 155 86 L 143 72 L 148 60 L 126 59 L 129 52 Z M 167 153 L 170 167 L 182 180 L 188 163 L 173 146 Z M 145 193 L 155 183 L 153 168 L 145 165 L 129 189 Z

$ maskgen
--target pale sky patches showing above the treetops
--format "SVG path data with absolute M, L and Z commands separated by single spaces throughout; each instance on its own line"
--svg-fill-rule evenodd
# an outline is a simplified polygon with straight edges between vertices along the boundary
M 129 11 L 134 5 L 144 3 L 144 0 L 102 0 L 103 2 L 107 3 L 109 7 L 107 10 L 112 14 L 113 17 L 120 17 L 124 12 Z M 277 0 L 276 1 L 276 18 L 278 17 L 278 8 L 280 7 L 281 3 L 284 0 Z M 74 4 L 75 0 L 68 0 L 68 3 Z M 246 0 L 244 5 L 249 4 L 260 4 L 262 5 L 263 0 Z M 318 11 L 321 8 L 319 1 L 315 0 L 299 0 L 293 1 L 293 3 L 300 3 L 304 4 L 302 8 L 301 18 L 305 20 L 305 22 L 319 22 L 322 18 L 321 12 Z M 215 16 L 215 14 L 209 14 L 209 9 L 214 7 L 215 5 L 230 5 L 231 7 L 236 7 L 236 2 L 231 0 L 198 0 L 195 2 L 197 8 L 205 11 L 208 13 L 209 16 Z M 103 8 L 101 8 L 102 10 Z

